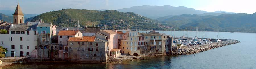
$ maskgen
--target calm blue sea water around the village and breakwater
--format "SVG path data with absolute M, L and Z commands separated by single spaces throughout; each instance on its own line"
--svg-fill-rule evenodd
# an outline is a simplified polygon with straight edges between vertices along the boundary
M 148 32 L 148 31 L 140 31 Z M 172 31 L 159 31 L 172 36 Z M 191 33 L 191 34 L 190 34 Z M 186 32 L 174 31 L 175 37 L 217 38 L 217 32 Z M 110 68 L 110 69 L 256 69 L 256 33 L 219 32 L 221 39 L 236 39 L 241 43 L 211 49 L 194 55 L 156 56 L 147 60 L 125 61 L 118 64 L 71 64 L 71 63 L 42 63 L 15 64 L 4 69 L 46 69 L 46 68 Z

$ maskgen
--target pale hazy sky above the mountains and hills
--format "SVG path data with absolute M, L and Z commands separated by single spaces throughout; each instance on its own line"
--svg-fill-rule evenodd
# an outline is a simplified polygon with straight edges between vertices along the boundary
M 15 10 L 18 0 L 0 0 L 0 10 Z M 23 13 L 44 13 L 62 8 L 121 9 L 142 5 L 185 6 L 196 10 L 255 13 L 256 0 L 19 0 Z

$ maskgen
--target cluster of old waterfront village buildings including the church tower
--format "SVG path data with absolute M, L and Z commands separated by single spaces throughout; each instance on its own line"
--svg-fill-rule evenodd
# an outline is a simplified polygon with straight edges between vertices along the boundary
M 154 55 L 171 51 L 172 37 L 156 31 L 140 33 L 137 30 L 106 30 L 100 27 L 57 27 L 42 19 L 24 22 L 19 6 L 13 22 L 1 20 L 1 46 L 7 48 L 5 57 L 61 59 L 83 62 L 107 62 L 108 57 L 120 55 Z

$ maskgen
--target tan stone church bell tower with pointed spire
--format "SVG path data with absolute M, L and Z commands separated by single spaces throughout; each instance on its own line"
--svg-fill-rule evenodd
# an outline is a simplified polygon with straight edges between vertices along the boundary
M 18 3 L 15 9 L 15 12 L 13 14 L 13 24 L 20 24 L 20 23 L 24 23 L 24 14 L 22 13 L 22 10 Z

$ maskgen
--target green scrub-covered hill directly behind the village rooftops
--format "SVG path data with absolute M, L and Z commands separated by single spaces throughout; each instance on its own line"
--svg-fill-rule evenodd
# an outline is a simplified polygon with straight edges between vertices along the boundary
M 70 27 L 74 27 L 75 23 L 77 25 L 77 20 L 79 20 L 79 25 L 81 27 L 87 26 L 99 26 L 106 27 L 108 29 L 155 29 L 164 30 L 160 28 L 157 21 L 144 16 L 140 16 L 133 12 L 118 12 L 116 10 L 81 10 L 81 9 L 62 9 L 58 11 L 46 12 L 35 16 L 30 22 L 42 19 L 44 22 L 52 22 L 58 27 L 67 27 L 70 22 Z

